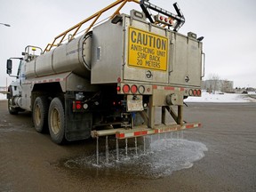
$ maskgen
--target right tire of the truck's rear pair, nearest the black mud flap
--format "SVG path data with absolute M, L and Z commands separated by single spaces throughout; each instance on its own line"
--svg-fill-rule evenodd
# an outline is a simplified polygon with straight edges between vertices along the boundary
M 52 141 L 62 144 L 65 141 L 64 106 L 59 98 L 54 98 L 48 113 L 48 126 Z

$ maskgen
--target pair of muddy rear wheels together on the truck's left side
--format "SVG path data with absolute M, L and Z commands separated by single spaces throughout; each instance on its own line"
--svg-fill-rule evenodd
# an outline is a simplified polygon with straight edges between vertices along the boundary
M 46 97 L 37 97 L 33 107 L 33 122 L 36 132 L 49 132 L 52 141 L 61 144 L 65 140 L 64 105 L 60 98 L 54 98 L 50 105 Z

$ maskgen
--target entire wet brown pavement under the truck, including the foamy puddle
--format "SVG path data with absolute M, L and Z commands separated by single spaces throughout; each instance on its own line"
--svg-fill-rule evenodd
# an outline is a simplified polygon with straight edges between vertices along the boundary
M 256 191 L 256 104 L 188 104 L 203 128 L 65 146 L 0 101 L 0 191 Z M 137 148 L 136 148 L 137 146 Z

